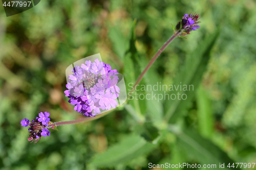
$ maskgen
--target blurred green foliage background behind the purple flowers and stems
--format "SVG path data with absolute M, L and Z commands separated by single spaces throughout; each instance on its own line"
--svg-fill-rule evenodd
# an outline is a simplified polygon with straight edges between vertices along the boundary
M 148 169 L 150 162 L 214 162 L 218 169 L 223 162 L 256 162 L 255 7 L 253 0 L 48 0 L 10 17 L 0 7 L 0 169 Z M 20 126 L 25 117 L 41 111 L 50 112 L 53 122 L 82 117 L 63 93 L 71 63 L 100 53 L 134 83 L 172 36 L 171 24 L 190 11 L 200 14 L 200 29 L 175 39 L 142 81 L 169 85 L 189 78 L 189 64 L 198 68 L 194 75 L 202 76 L 189 79 L 198 88 L 175 119 L 164 117 L 173 101 L 134 100 L 28 142 L 28 130 Z M 205 52 L 201 46 L 218 27 L 218 39 Z M 204 59 L 207 66 L 194 64 Z

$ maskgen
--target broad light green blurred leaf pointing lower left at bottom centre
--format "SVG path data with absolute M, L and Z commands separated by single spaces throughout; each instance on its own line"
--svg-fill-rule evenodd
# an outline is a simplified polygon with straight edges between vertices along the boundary
M 157 145 L 146 142 L 141 136 L 132 134 L 104 153 L 96 154 L 89 164 L 97 167 L 112 167 L 145 155 L 156 147 Z

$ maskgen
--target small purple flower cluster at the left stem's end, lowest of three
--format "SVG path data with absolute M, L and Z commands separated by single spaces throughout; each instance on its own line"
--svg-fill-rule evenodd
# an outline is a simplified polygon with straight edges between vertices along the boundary
M 45 112 L 42 113 L 40 112 L 39 117 L 36 117 L 29 123 L 29 119 L 25 118 L 20 122 L 22 126 L 28 127 L 29 128 L 29 133 L 30 135 L 28 136 L 28 140 L 31 142 L 37 142 L 42 136 L 50 136 L 50 131 L 47 129 L 48 123 L 50 122 L 50 113 Z

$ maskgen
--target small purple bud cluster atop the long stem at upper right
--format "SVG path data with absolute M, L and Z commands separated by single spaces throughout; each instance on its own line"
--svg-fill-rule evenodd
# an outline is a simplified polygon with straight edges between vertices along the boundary
M 195 31 L 199 29 L 198 23 L 200 23 L 200 21 L 198 21 L 198 19 L 199 19 L 199 15 L 197 13 L 185 14 L 182 17 L 182 20 L 178 22 L 176 26 L 176 31 L 180 29 L 184 29 L 182 33 L 182 35 L 184 36 L 186 34 L 189 34 L 190 31 Z

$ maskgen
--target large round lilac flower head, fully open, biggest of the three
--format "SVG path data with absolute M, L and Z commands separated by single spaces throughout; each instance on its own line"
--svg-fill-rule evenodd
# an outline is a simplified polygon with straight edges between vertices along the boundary
M 69 75 L 68 90 L 64 91 L 74 110 L 88 117 L 116 108 L 120 93 L 117 70 L 98 59 L 94 61 L 76 65 L 73 75 Z

